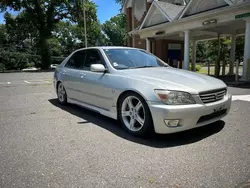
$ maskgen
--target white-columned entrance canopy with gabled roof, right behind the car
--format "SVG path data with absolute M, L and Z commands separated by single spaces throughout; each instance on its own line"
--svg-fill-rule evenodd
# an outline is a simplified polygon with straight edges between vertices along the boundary
M 189 69 L 190 42 L 192 67 L 196 64 L 196 43 L 219 37 L 232 37 L 230 73 L 235 62 L 236 37 L 245 35 L 243 80 L 250 80 L 250 1 L 191 0 L 186 6 L 154 1 L 140 28 L 130 34 L 146 39 L 148 51 L 154 51 L 154 41 L 184 41 L 183 68 Z M 219 50 L 218 50 L 219 51 Z M 219 52 L 218 52 L 219 56 Z

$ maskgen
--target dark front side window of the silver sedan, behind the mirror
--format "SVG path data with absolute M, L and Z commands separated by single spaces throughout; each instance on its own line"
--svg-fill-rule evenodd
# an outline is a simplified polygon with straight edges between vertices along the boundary
M 95 49 L 87 50 L 87 57 L 83 69 L 90 70 L 92 64 L 103 64 L 105 66 L 101 54 Z

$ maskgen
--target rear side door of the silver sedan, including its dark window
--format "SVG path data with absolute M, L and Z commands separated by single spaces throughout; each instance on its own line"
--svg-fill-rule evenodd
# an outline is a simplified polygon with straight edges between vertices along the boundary
M 81 99 L 81 91 L 79 90 L 80 70 L 83 69 L 85 57 L 84 50 L 75 52 L 62 70 L 62 81 L 69 99 Z

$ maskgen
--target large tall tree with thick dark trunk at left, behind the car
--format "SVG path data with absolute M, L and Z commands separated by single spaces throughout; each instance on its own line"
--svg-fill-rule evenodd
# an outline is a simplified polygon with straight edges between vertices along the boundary
M 64 18 L 69 18 L 73 1 L 68 0 L 9 0 L 0 4 L 0 10 L 9 7 L 15 11 L 23 11 L 38 32 L 38 47 L 42 59 L 42 68 L 46 69 L 51 63 L 48 40 L 52 35 L 56 23 Z

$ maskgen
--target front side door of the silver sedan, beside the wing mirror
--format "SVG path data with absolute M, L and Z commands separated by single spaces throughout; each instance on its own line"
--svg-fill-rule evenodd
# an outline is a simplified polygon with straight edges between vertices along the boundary
M 112 107 L 112 88 L 110 87 L 111 75 L 107 72 L 92 72 L 90 66 L 92 64 L 106 63 L 98 49 L 86 50 L 86 60 L 81 71 L 83 79 L 81 82 L 81 90 L 85 94 L 84 102 L 95 107 L 109 110 Z

